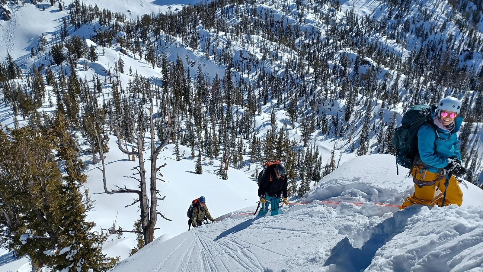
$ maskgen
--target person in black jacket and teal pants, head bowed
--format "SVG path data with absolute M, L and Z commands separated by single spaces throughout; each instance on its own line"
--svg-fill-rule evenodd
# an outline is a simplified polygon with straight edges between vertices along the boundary
M 276 163 L 267 166 L 258 175 L 258 196 L 260 196 L 260 203 L 262 208 L 258 215 L 265 215 L 269 210 L 269 203 L 271 202 L 271 214 L 278 214 L 278 203 L 280 196 L 284 195 L 284 204 L 288 205 L 287 200 L 287 175 L 286 168 L 283 163 Z

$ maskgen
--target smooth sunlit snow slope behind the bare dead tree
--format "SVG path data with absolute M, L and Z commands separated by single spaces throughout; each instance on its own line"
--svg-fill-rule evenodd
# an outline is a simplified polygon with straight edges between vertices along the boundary
M 111 137 L 109 148 L 109 153 L 105 154 L 108 189 L 117 189 L 114 184 L 119 187 L 126 185 L 128 188 L 137 188 L 137 181 L 125 178 L 125 176 L 131 176 L 131 173 L 134 172 L 132 168 L 138 166 L 138 162 L 127 160 L 128 156 L 117 148 L 115 137 Z M 166 182 L 158 181 L 160 193 L 166 196 L 164 201 L 158 202 L 159 211 L 173 221 L 166 221 L 158 217 L 156 227 L 160 229 L 155 230 L 156 238 L 163 234 L 178 235 L 187 230 L 186 211 L 191 201 L 199 196 L 206 197 L 206 205 L 213 217 L 254 205 L 258 201 L 256 181 L 248 178 L 241 170 L 230 167 L 228 170 L 229 180 L 225 181 L 215 175 L 219 169 L 219 163 L 210 166 L 205 163 L 208 161 L 202 161 L 203 174 L 200 176 L 194 172 L 196 159 L 190 160 L 185 157 L 181 162 L 178 162 L 172 158 L 173 148 L 173 144 L 168 145 L 165 151 L 161 152 L 158 160 L 158 165 L 167 163 L 160 170 L 163 175 L 162 179 Z M 191 153 L 189 148 L 180 146 L 180 152 L 183 153 L 184 151 L 185 154 Z M 150 151 L 146 150 L 147 152 Z M 134 220 L 139 217 L 138 205 L 124 208 L 124 206 L 133 202 L 131 194 L 96 195 L 96 193 L 104 192 L 102 172 L 96 168 L 97 166 L 99 165 L 92 166 L 91 164 L 85 172 L 89 176 L 87 182 L 89 192 L 93 194 L 92 198 L 97 201 L 95 211 L 89 213 L 89 219 L 97 223 L 98 229 L 100 227 L 108 228 L 116 220 L 115 216 L 119 212 L 117 226 L 126 230 L 132 229 Z M 131 248 L 134 246 L 133 243 Z

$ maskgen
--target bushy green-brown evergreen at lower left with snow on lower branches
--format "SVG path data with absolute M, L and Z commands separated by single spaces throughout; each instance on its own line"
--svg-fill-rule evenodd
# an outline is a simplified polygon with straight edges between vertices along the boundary
M 34 271 L 44 266 L 71 272 L 110 269 L 116 259 L 101 252 L 106 237 L 86 221 L 93 206 L 80 192 L 85 175 L 80 174 L 75 146 L 46 135 L 27 127 L 0 131 L 4 242 L 15 256 L 27 255 Z M 64 162 L 64 176 L 57 160 Z

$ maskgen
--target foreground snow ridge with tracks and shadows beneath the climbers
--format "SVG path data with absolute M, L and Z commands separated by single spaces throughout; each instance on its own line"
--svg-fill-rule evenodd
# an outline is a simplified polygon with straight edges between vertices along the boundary
M 370 203 L 400 204 L 412 184 L 396 175 L 393 156 L 360 156 L 301 199 L 310 204 L 284 207 L 277 216 L 233 216 L 156 240 L 112 271 L 482 271 L 483 192 L 461 186 L 462 207 L 398 211 Z M 341 204 L 318 201 L 326 199 Z M 351 204 L 359 201 L 367 203 Z

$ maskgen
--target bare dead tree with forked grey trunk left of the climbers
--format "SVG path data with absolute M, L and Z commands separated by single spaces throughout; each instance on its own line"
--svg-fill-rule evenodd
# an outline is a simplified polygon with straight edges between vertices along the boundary
M 170 109 L 168 108 L 166 112 L 161 112 L 160 117 L 156 118 L 161 118 L 161 121 L 165 124 L 165 127 L 167 128 L 167 133 L 164 139 L 159 139 L 161 143 L 156 146 L 156 138 L 155 138 L 155 127 L 154 127 L 154 117 L 153 117 L 153 99 L 154 99 L 154 94 L 151 93 L 151 97 L 149 97 L 149 103 L 147 106 L 147 110 L 149 112 L 149 131 L 150 131 L 150 142 L 149 142 L 149 150 L 151 151 L 151 154 L 149 156 L 149 161 L 150 161 L 150 177 L 149 177 L 149 184 L 146 181 L 146 168 L 144 166 L 144 147 L 145 147 L 145 142 L 144 142 L 144 133 L 143 130 L 140 129 L 138 131 L 138 128 L 141 126 L 141 124 L 136 122 L 136 118 L 134 117 L 135 111 L 134 111 L 134 106 L 135 103 L 134 101 L 131 101 L 131 114 L 129 115 L 129 126 L 131 126 L 132 131 L 134 132 L 134 145 L 136 146 L 137 150 L 132 150 L 128 151 L 127 148 L 127 143 L 125 142 L 125 147 L 123 147 L 123 139 L 120 136 L 120 127 L 118 125 L 119 121 L 114 121 L 111 119 L 111 127 L 114 130 L 115 136 L 117 138 L 117 144 L 118 148 L 120 151 L 123 153 L 129 155 L 133 155 L 138 157 L 138 162 L 139 166 L 136 166 L 133 168 L 133 170 L 136 170 L 136 173 L 133 173 L 133 175 L 137 175 L 138 177 L 134 176 L 129 176 L 126 178 L 134 179 L 137 181 L 138 186 L 137 189 L 131 189 L 128 188 L 127 186 L 124 186 L 124 188 L 121 188 L 119 186 L 114 185 L 118 189 L 116 190 L 109 190 L 107 188 L 107 178 L 106 178 L 106 171 L 105 171 L 105 165 L 104 165 L 104 156 L 102 153 L 102 146 L 100 142 L 100 137 L 99 139 L 99 149 L 100 149 L 100 158 L 102 162 L 102 168 L 99 168 L 99 170 L 102 171 L 102 179 L 103 179 L 103 185 L 104 185 L 104 193 L 105 194 L 123 194 L 123 193 L 128 193 L 128 194 L 135 194 L 137 195 L 136 198 L 134 199 L 134 202 L 127 205 L 126 207 L 135 205 L 139 203 L 140 206 L 140 213 L 141 213 L 141 222 L 142 222 L 142 235 L 144 238 L 144 243 L 148 244 L 150 242 L 153 242 L 154 240 L 154 230 L 156 229 L 156 221 L 157 221 L 157 216 L 161 216 L 162 218 L 171 221 L 170 219 L 166 218 L 161 212 L 158 211 L 158 205 L 157 201 L 158 200 L 164 200 L 166 196 L 162 196 L 157 189 L 157 181 L 163 181 L 160 177 L 162 175 L 159 172 L 159 170 L 166 166 L 166 163 L 157 166 L 156 161 L 157 157 L 159 156 L 159 153 L 162 151 L 162 149 L 166 146 L 170 139 L 170 134 L 171 134 L 171 122 L 173 120 L 176 120 L 176 116 L 178 116 L 177 113 L 174 114 L 174 117 L 171 116 Z M 179 122 L 175 121 L 176 124 L 174 125 L 174 128 L 177 129 L 177 126 L 179 125 Z M 125 140 L 124 140 L 125 141 Z M 149 187 L 148 187 L 149 186 Z M 149 189 L 149 193 L 148 193 Z M 162 196 L 162 197 L 161 197 Z M 151 202 L 150 202 L 151 201 Z M 140 233 L 139 231 L 129 231 L 129 230 L 122 230 L 122 232 L 134 232 L 134 233 Z

